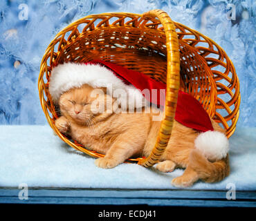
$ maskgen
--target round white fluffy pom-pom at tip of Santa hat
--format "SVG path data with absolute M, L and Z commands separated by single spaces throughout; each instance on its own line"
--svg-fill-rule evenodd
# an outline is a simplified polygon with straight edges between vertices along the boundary
M 194 140 L 196 149 L 212 161 L 221 160 L 228 153 L 228 138 L 219 131 L 206 131 Z

